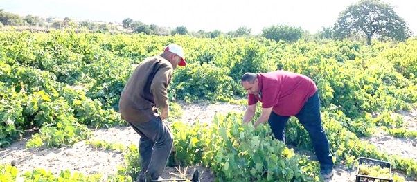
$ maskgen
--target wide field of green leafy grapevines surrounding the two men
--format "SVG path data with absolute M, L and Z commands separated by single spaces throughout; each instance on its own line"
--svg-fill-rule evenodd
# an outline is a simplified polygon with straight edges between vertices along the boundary
M 189 36 L 101 33 L 0 32 L 0 147 L 31 135 L 28 148 L 71 146 L 89 140 L 91 129 L 123 126 L 118 99 L 132 64 L 157 55 L 163 46 L 184 47 L 188 65 L 170 84 L 170 123 L 175 153 L 168 165 L 203 165 L 218 181 L 320 181 L 319 164 L 272 138 L 267 125 L 242 125 L 242 113 L 216 115 L 207 123 L 179 120 L 178 100 L 246 104 L 240 77 L 276 69 L 308 75 L 317 83 L 323 127 L 335 163 L 357 166 L 360 156 L 389 161 L 417 179 L 417 161 L 381 151 L 360 138 L 384 130 L 393 137 L 417 138 L 399 111 L 417 107 L 417 39 L 402 43 L 263 38 L 215 39 Z M 259 109 L 258 109 L 259 110 Z M 287 144 L 312 151 L 307 131 L 288 122 Z M 0 164 L 0 181 L 134 181 L 140 170 L 137 146 L 91 143 L 119 150 L 125 165 L 107 179 L 99 174 L 39 169 L 21 172 Z M 395 181 L 404 181 L 393 176 Z

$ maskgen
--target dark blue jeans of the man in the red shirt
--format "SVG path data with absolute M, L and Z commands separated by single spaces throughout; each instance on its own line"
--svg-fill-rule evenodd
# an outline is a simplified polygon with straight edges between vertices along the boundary
M 312 140 L 312 145 L 319 160 L 321 170 L 329 170 L 333 167 L 333 160 L 330 154 L 329 143 L 324 132 L 323 125 L 321 125 L 320 115 L 320 99 L 318 91 L 314 93 L 307 102 L 305 102 L 301 111 L 296 114 L 296 118 L 303 127 L 308 131 Z M 288 122 L 289 116 L 279 116 L 272 112 L 269 116 L 269 126 L 275 138 L 285 143 L 285 125 Z

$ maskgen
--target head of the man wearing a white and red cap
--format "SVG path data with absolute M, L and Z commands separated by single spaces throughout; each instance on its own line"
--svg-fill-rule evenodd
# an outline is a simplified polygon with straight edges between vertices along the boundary
M 166 46 L 162 55 L 166 60 L 171 62 L 174 69 L 176 69 L 178 65 L 186 66 L 187 64 L 186 60 L 184 60 L 184 51 L 181 46 L 178 46 L 177 44 L 169 44 Z

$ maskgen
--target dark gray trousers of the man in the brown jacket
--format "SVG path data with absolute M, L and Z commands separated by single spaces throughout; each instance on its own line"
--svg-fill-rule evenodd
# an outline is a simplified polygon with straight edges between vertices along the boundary
M 129 124 L 141 136 L 139 140 L 141 174 L 148 170 L 152 179 L 158 179 L 165 170 L 172 150 L 173 136 L 169 127 L 159 117 L 148 122 Z

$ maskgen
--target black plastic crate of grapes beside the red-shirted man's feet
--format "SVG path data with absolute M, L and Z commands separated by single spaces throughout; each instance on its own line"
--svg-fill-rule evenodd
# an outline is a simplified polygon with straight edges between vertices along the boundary
M 379 165 L 382 168 L 389 168 L 389 176 L 391 176 L 389 179 L 385 178 L 379 178 L 378 176 L 366 176 L 359 174 L 359 166 L 361 164 L 366 165 Z M 366 158 L 366 157 L 360 157 L 359 158 L 359 165 L 357 166 L 357 172 L 356 172 L 356 182 L 393 182 L 392 179 L 392 173 L 391 173 L 391 163 L 388 163 L 386 161 L 380 161 L 373 158 Z

